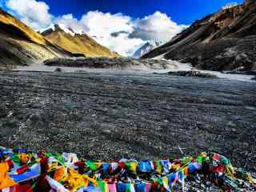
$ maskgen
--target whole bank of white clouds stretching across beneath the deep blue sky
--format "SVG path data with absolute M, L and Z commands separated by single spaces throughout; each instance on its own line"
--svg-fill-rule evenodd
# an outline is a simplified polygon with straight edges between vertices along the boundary
M 95 10 L 78 19 L 73 14 L 54 17 L 45 2 L 36 0 L 7 0 L 6 7 L 35 30 L 62 23 L 79 34 L 84 31 L 103 46 L 122 55 L 133 54 L 148 41 L 167 42 L 186 27 L 159 11 L 145 18 L 134 19 L 121 13 Z

